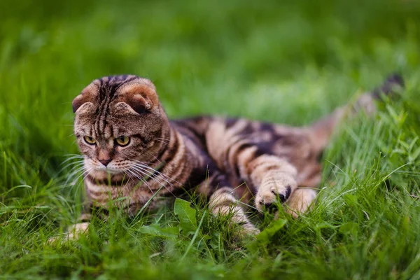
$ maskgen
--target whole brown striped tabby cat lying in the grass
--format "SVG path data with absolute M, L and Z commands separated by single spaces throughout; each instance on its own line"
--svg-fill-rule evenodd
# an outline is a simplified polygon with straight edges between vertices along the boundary
M 242 232 L 255 235 L 259 230 L 241 204 L 264 211 L 279 201 L 295 218 L 308 211 L 321 183 L 318 159 L 340 121 L 374 112 L 374 99 L 403 86 L 395 74 L 355 104 L 313 125 L 289 127 L 217 116 L 169 120 L 151 80 L 99 78 L 72 103 L 88 209 L 111 202 L 135 215 L 146 204 L 158 209 L 168 197 L 195 192 L 213 214 L 230 214 Z M 85 231 L 89 218 L 84 214 L 68 237 Z

